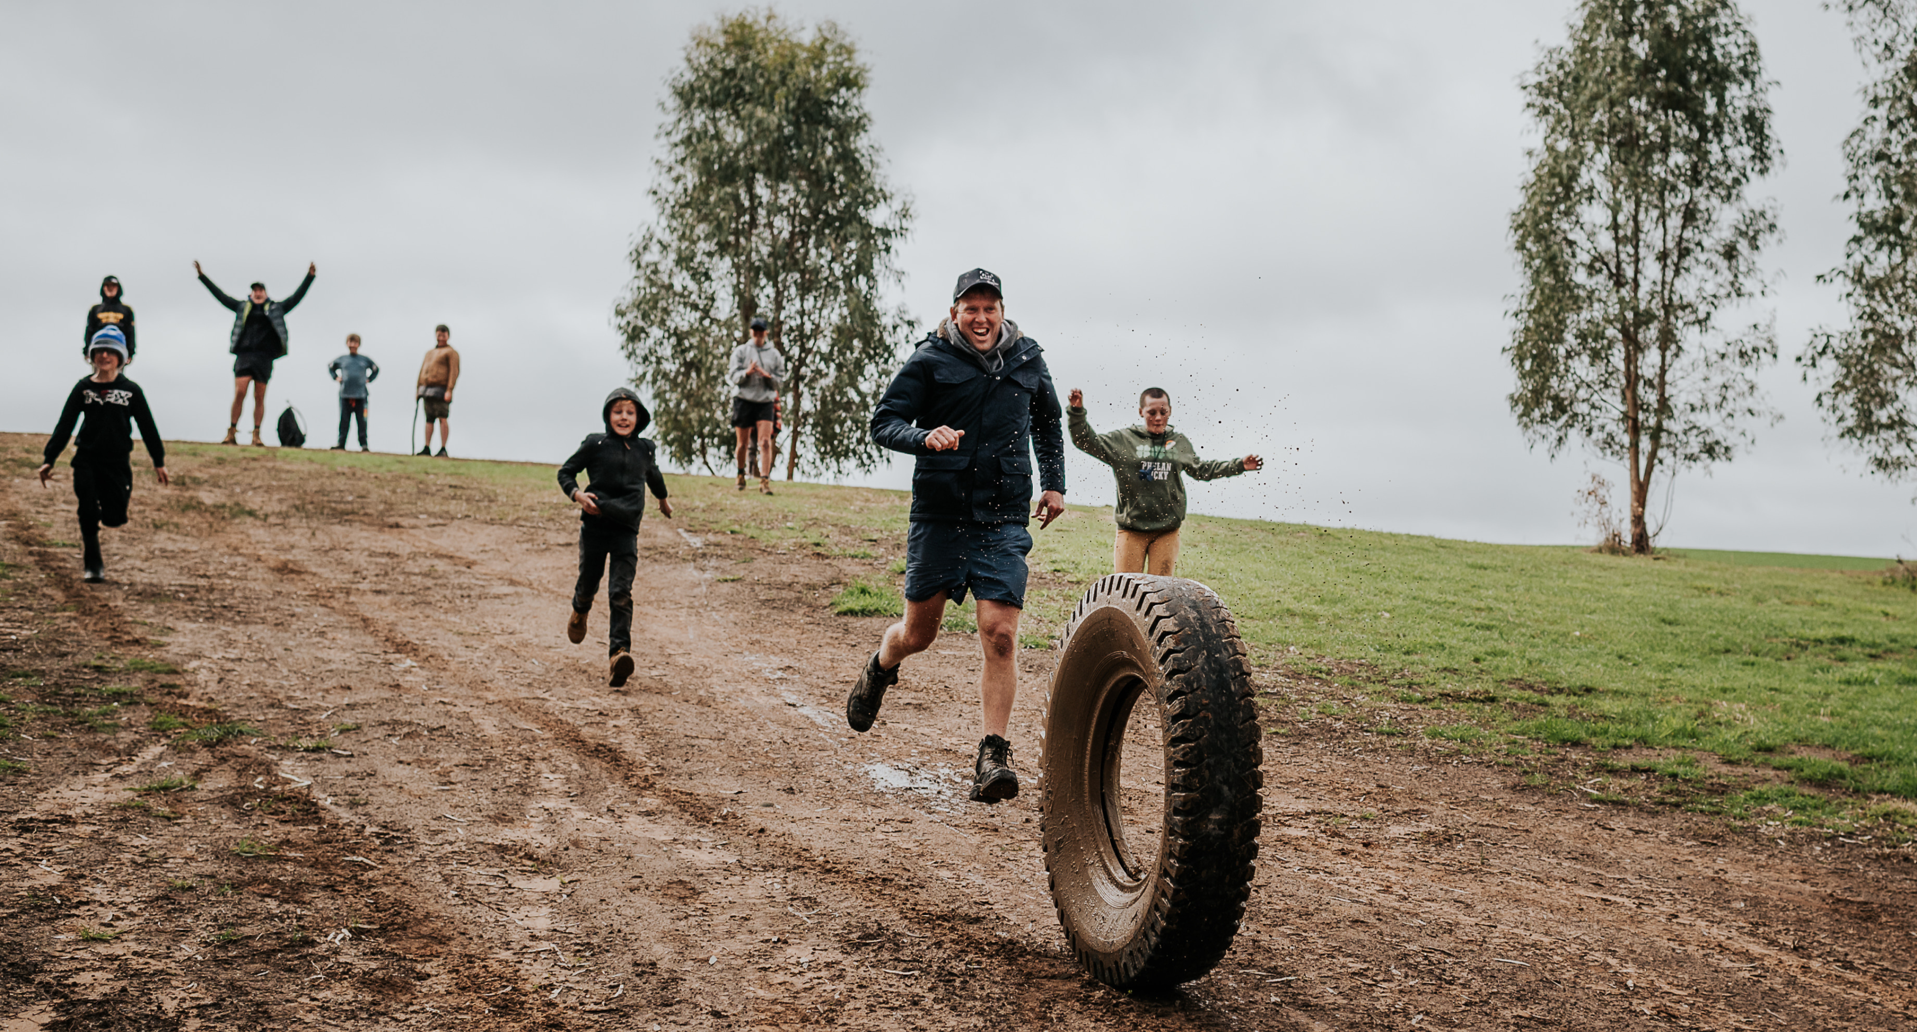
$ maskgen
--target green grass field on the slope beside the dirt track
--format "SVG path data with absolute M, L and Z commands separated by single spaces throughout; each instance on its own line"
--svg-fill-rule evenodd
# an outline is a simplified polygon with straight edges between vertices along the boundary
M 548 464 L 178 453 L 196 460 L 178 464 L 190 483 L 226 462 L 284 460 L 318 466 L 316 481 L 358 491 L 360 506 L 571 520 Z M 893 612 L 905 493 L 778 483 L 765 499 L 728 480 L 667 480 L 675 524 L 861 560 L 868 574 L 842 585 L 842 606 Z M 136 514 L 153 497 L 142 487 Z M 1888 562 L 1695 549 L 1641 560 L 1210 516 L 1183 537 L 1179 572 L 1227 600 L 1259 666 L 1455 710 L 1434 714 L 1434 737 L 1689 750 L 1917 798 L 1917 593 L 1884 579 Z M 1028 646 L 1045 645 L 1108 572 L 1110 508 L 1074 506 L 1035 539 L 1045 577 L 1028 598 Z

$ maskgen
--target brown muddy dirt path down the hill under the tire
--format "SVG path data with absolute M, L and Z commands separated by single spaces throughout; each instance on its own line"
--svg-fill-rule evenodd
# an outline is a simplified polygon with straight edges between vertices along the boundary
M 587 645 L 562 633 L 564 528 L 174 466 L 199 516 L 142 520 L 142 483 L 104 587 L 58 543 L 65 493 L 17 455 L 0 491 L 27 721 L 0 746 L 31 767 L 0 779 L 4 1030 L 1917 1022 L 1909 852 L 1597 808 L 1336 731 L 1267 739 L 1233 953 L 1129 997 L 1062 948 L 1037 792 L 964 802 L 974 639 L 912 664 L 870 735 L 843 727 L 882 627 L 830 616 L 847 560 L 648 520 L 640 675 L 610 691 L 604 610 Z M 1024 652 L 1028 788 L 1049 668 Z M 119 700 L 121 727 L 77 700 Z M 169 746 L 159 714 L 249 731 Z M 197 788 L 128 792 L 169 775 Z

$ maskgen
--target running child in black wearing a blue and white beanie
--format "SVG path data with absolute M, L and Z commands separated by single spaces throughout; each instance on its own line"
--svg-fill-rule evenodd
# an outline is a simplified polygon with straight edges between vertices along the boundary
M 140 426 L 140 439 L 146 441 L 161 485 L 167 483 L 167 445 L 159 441 L 159 428 L 153 426 L 140 384 L 121 376 L 127 336 L 117 326 L 107 326 L 94 334 L 86 355 L 94 363 L 94 374 L 67 393 L 67 407 L 54 424 L 54 435 L 46 439 L 40 487 L 54 476 L 54 460 L 67 451 L 73 424 L 86 412 L 73 447 L 73 495 L 81 501 L 86 583 L 100 583 L 107 579 L 105 560 L 100 556 L 100 526 L 127 526 L 127 503 L 132 499 L 132 464 L 127 460 L 132 455 L 132 426 Z

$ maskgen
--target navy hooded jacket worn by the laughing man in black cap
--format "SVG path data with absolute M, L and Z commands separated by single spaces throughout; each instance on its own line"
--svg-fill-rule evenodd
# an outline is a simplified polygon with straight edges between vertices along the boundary
M 872 441 L 918 457 L 912 522 L 1029 524 L 1033 449 L 1041 489 L 1066 489 L 1062 409 L 1043 349 L 1020 336 L 1005 366 L 985 372 L 960 347 L 926 336 L 878 401 Z M 964 430 L 955 451 L 926 447 L 939 426 Z

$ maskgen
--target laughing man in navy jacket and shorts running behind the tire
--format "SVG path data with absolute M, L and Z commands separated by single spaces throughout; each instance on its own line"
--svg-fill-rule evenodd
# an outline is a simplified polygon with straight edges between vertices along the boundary
M 866 660 L 845 698 L 845 723 L 872 727 L 886 689 L 899 683 L 899 664 L 932 645 L 945 602 L 964 602 L 970 591 L 985 660 L 978 679 L 985 737 L 972 765 L 972 800 L 1008 800 L 1018 794 L 1005 731 L 1018 694 L 1031 453 L 1043 489 L 1031 512 L 1039 528 L 1066 508 L 1066 455 L 1052 374 L 1039 345 L 1005 318 L 997 276 L 983 269 L 958 276 L 951 315 L 905 361 L 872 412 L 872 439 L 918 457 L 905 620 L 886 629 Z

